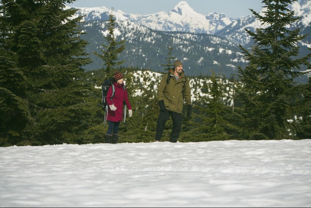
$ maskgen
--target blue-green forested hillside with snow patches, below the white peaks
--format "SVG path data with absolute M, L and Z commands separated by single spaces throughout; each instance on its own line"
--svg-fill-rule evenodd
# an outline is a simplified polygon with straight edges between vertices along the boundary
M 86 34 L 81 38 L 89 42 L 86 52 L 93 62 L 85 66 L 86 70 L 102 69 L 102 61 L 94 55 L 103 43 L 103 34 L 107 34 L 107 21 L 92 21 L 81 24 Z M 185 73 L 190 76 L 208 76 L 213 69 L 230 77 L 237 66 L 245 66 L 246 61 L 237 44 L 208 34 L 184 32 L 153 31 L 145 26 L 128 21 L 116 22 L 116 40 L 126 40 L 125 50 L 120 59 L 123 67 L 149 69 L 161 72 L 165 62 L 167 47 L 174 47 L 173 55 L 184 63 Z

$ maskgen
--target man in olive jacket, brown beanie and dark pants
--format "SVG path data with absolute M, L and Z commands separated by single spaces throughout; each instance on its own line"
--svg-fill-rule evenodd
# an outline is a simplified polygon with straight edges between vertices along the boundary
M 171 116 L 173 121 L 170 142 L 177 142 L 181 131 L 181 111 L 183 99 L 185 99 L 188 111 L 191 116 L 191 91 L 189 80 L 187 80 L 180 60 L 174 62 L 174 69 L 164 74 L 157 91 L 159 99 L 160 114 L 157 121 L 155 141 L 160 141 L 166 121 Z

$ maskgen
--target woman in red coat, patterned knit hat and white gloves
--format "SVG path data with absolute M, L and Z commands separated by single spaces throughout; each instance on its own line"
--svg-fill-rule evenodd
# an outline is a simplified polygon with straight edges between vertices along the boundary
M 119 124 L 123 119 L 123 102 L 127 105 L 129 109 L 129 117 L 132 116 L 132 108 L 128 97 L 128 92 L 123 83 L 123 74 L 115 71 L 115 94 L 113 95 L 112 86 L 109 87 L 106 102 L 109 106 L 108 108 L 108 130 L 106 133 L 106 142 L 116 144 L 119 140 Z

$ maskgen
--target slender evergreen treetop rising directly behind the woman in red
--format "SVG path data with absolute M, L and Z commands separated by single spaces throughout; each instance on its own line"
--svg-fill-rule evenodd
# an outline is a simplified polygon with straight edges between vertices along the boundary
M 107 30 L 108 34 L 104 36 L 108 45 L 101 45 L 104 49 L 100 50 L 102 54 L 98 52 L 94 52 L 99 58 L 104 61 L 104 66 L 106 66 L 106 74 L 107 76 L 111 76 L 116 69 L 116 66 L 121 65 L 124 61 L 119 60 L 119 54 L 125 49 L 125 40 L 116 41 L 115 38 L 115 15 L 113 14 L 113 8 L 109 15 L 109 19 L 107 21 Z

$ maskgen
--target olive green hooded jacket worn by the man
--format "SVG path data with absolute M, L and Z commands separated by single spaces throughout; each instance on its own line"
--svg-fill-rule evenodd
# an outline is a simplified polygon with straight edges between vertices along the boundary
M 189 79 L 186 79 L 184 72 L 180 74 L 178 80 L 174 75 L 174 70 L 170 70 L 170 81 L 166 84 L 168 73 L 165 73 L 162 77 L 160 85 L 157 91 L 157 98 L 164 101 L 165 108 L 167 110 L 181 113 L 183 105 L 182 89 L 184 88 L 184 99 L 186 104 L 191 104 L 191 91 L 189 85 Z M 185 84 L 184 84 L 185 82 Z

